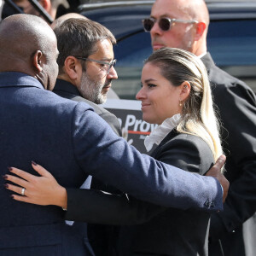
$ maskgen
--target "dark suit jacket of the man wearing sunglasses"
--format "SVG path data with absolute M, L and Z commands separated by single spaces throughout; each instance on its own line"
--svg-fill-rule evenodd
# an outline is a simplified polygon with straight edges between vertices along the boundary
M 212 214 L 209 253 L 222 256 L 220 239 L 225 256 L 243 256 L 247 237 L 243 237 L 242 224 L 256 211 L 256 97 L 247 84 L 216 67 L 209 53 L 201 60 L 223 124 L 225 176 L 230 181 L 224 212 Z M 255 236 L 255 224 L 247 233 Z

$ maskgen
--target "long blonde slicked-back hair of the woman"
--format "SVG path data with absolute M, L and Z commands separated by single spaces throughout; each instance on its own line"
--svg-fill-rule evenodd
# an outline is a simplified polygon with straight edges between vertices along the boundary
M 177 131 L 201 137 L 211 148 L 214 160 L 223 153 L 219 139 L 212 91 L 207 70 L 200 58 L 183 49 L 162 48 L 154 51 L 146 63 L 160 67 L 161 74 L 174 86 L 188 81 L 191 89 L 183 103 L 181 120 Z

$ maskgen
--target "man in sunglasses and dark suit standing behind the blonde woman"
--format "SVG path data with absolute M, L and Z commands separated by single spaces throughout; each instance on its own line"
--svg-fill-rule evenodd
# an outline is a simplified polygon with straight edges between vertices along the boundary
M 225 169 L 230 180 L 224 212 L 212 214 L 209 255 L 246 255 L 243 224 L 253 214 L 255 217 L 256 210 L 255 95 L 247 84 L 216 67 L 207 52 L 209 14 L 203 0 L 156 0 L 143 26 L 150 32 L 154 50 L 185 49 L 199 56 L 207 67 L 214 102 L 224 125 L 221 132 L 227 155 Z M 248 221 L 253 222 L 253 217 Z M 248 238 L 255 237 L 255 222 L 247 224 L 247 232 Z M 247 253 L 255 252 L 253 244 L 250 246 Z

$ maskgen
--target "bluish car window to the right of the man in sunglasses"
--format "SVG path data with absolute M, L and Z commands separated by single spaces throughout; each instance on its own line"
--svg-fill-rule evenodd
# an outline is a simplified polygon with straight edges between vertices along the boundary
M 256 92 L 256 20 L 214 21 L 207 46 L 218 67 L 243 80 Z

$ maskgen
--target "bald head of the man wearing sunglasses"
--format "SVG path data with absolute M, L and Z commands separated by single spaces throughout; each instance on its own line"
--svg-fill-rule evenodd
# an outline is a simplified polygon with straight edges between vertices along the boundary
M 195 55 L 207 51 L 209 13 L 204 0 L 156 0 L 151 17 L 156 21 L 150 31 L 153 49 L 180 48 Z M 170 29 L 163 31 L 158 24 L 162 17 L 191 22 L 172 22 Z

